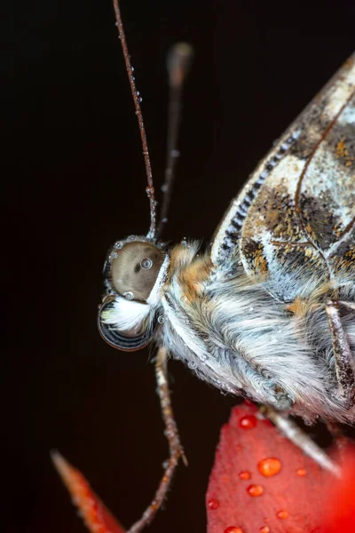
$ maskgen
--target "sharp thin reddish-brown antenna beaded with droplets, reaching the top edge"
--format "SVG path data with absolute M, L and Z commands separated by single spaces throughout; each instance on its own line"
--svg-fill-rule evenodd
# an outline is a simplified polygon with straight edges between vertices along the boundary
M 141 99 L 139 97 L 139 93 L 137 92 L 136 84 L 134 83 L 133 69 L 132 69 L 132 66 L 130 65 L 130 54 L 128 52 L 126 36 L 124 35 L 122 17 L 121 17 L 118 0 L 113 0 L 113 1 L 114 1 L 114 14 L 115 14 L 116 21 L 117 21 L 118 34 L 121 39 L 124 62 L 126 64 L 126 70 L 127 70 L 128 78 L 130 80 L 130 91 L 133 96 L 134 107 L 136 108 L 136 115 L 138 118 L 138 125 L 139 125 L 139 131 L 140 131 L 140 139 L 142 140 L 143 155 L 144 155 L 145 163 L 146 163 L 146 182 L 147 182 L 146 194 L 149 198 L 149 203 L 150 203 L 150 227 L 149 227 L 148 235 L 146 236 L 149 239 L 155 239 L 156 237 L 156 210 L 155 210 L 156 202 L 155 202 L 155 195 L 154 195 L 152 167 L 150 164 L 148 144 L 146 142 L 146 130 L 145 130 L 144 122 L 143 122 L 142 111 L 140 108 Z

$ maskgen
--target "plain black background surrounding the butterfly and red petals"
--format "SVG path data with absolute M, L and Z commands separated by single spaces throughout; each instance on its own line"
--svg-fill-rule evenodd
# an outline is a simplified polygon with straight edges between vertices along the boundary
M 52 448 L 129 526 L 154 494 L 167 447 L 148 352 L 114 351 L 95 324 L 107 248 L 146 233 L 149 222 L 114 12 L 109 0 L 40 0 L 7 10 L 5 529 L 84 530 L 51 466 Z M 157 185 L 166 51 L 177 40 L 193 44 L 165 236 L 208 240 L 272 141 L 351 53 L 355 4 L 130 0 L 122 14 Z M 202 532 L 218 433 L 235 400 L 177 362 L 170 374 L 189 467 L 180 466 L 149 530 Z

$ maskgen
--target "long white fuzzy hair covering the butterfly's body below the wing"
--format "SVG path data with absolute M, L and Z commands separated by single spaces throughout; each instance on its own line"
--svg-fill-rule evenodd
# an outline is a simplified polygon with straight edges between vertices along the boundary
M 185 267 L 193 263 L 195 251 L 195 245 L 184 251 Z M 279 409 L 293 406 L 308 419 L 354 419 L 354 410 L 346 410 L 335 394 L 333 348 L 321 290 L 304 314 L 291 314 L 287 304 L 272 297 L 267 282 L 245 274 L 234 257 L 209 275 L 198 297 L 186 298 L 181 267 L 162 298 L 167 319 L 162 342 L 170 354 L 225 392 L 245 394 Z M 319 282 L 323 281 L 318 280 L 318 286 Z M 299 294 L 312 302 L 315 288 L 310 279 Z M 343 294 L 349 298 L 353 293 L 347 286 Z M 342 322 L 355 357 L 355 313 L 350 311 Z

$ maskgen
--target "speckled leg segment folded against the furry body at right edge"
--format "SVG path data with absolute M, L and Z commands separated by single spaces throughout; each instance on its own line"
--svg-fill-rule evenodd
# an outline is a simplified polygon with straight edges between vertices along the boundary
M 339 387 L 338 394 L 350 409 L 355 401 L 355 362 L 343 330 L 339 314 L 339 303 L 328 300 L 326 312 L 332 336 L 335 372 Z

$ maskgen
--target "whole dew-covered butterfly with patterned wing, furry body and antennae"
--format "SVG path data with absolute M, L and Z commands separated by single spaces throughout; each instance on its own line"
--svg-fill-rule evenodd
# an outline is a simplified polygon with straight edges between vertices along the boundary
M 146 160 L 151 226 L 108 251 L 98 325 L 119 350 L 152 341 L 159 347 L 158 389 L 175 450 L 168 470 L 183 454 L 168 357 L 225 393 L 305 420 L 353 423 L 355 55 L 258 163 L 201 251 L 199 241 L 170 245 L 157 233 L 146 133 L 116 0 L 114 9 Z M 188 55 L 180 47 L 170 58 L 173 100 Z M 169 190 L 174 151 L 172 142 Z

